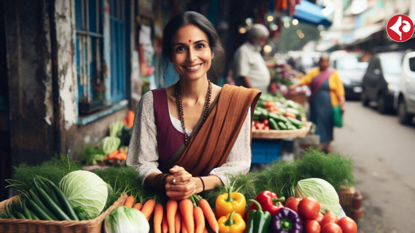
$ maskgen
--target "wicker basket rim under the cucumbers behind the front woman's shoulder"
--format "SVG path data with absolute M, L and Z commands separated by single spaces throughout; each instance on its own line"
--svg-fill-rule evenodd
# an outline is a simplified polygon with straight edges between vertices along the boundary
M 252 131 L 253 138 L 267 138 L 267 139 L 278 139 L 278 138 L 296 138 L 305 137 L 310 131 L 311 122 L 304 122 L 304 127 L 301 129 L 292 130 L 263 130 L 255 129 Z

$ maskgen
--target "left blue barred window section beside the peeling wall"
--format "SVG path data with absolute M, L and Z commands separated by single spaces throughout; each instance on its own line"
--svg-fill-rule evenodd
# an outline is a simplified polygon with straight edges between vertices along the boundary
M 102 106 L 105 99 L 102 9 L 102 0 L 75 0 L 75 53 L 80 114 Z

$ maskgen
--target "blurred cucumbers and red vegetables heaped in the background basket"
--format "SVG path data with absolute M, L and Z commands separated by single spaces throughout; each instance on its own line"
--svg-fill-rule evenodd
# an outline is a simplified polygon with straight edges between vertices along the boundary
M 288 130 L 303 127 L 303 106 L 282 96 L 263 94 L 254 110 L 253 129 Z

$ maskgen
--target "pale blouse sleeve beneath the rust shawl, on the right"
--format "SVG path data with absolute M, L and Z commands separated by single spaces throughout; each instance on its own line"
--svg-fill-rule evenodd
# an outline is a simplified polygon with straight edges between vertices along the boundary
M 214 168 L 209 174 L 218 176 L 222 182 L 228 183 L 226 174 L 231 175 L 246 174 L 251 167 L 251 108 L 246 114 L 241 130 L 239 131 L 236 142 L 226 159 L 226 162 Z

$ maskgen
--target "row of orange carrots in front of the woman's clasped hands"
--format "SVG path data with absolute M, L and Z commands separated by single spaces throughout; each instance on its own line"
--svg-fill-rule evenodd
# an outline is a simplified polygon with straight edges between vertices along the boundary
M 198 195 L 180 202 L 169 200 L 165 208 L 161 203 L 156 204 L 154 199 L 144 204 L 134 202 L 135 198 L 129 196 L 124 205 L 140 210 L 147 220 L 154 212 L 154 233 L 207 233 L 205 219 L 216 233 L 219 231 L 219 224 L 211 206 Z

